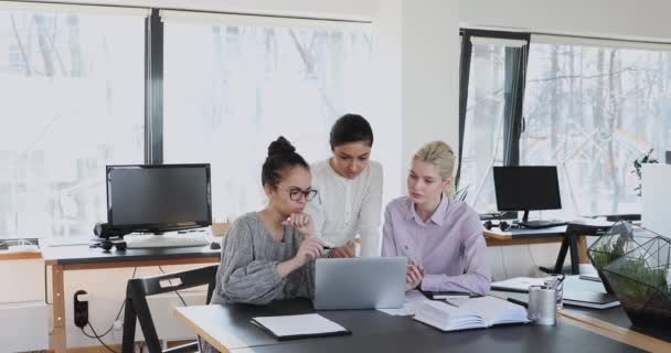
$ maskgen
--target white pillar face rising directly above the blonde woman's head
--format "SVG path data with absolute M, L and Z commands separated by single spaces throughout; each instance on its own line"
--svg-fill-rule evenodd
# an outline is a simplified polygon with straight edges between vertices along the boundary
M 457 1 L 403 1 L 402 175 L 426 142 L 444 140 L 458 150 L 458 19 Z

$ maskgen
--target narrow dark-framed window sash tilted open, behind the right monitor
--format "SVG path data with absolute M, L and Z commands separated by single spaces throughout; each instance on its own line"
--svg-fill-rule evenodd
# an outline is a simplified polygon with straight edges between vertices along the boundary
M 487 35 L 487 36 L 484 36 Z M 492 167 L 514 163 L 510 151 L 520 115 L 521 83 L 528 41 L 524 35 L 466 31 L 462 39 L 459 196 L 479 212 L 497 210 Z M 467 84 L 465 86 L 464 84 Z

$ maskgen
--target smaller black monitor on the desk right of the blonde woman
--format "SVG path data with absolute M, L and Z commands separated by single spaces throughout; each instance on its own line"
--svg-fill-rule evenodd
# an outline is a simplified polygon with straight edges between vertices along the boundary
M 560 182 L 555 165 L 494 167 L 494 190 L 499 211 L 560 210 Z

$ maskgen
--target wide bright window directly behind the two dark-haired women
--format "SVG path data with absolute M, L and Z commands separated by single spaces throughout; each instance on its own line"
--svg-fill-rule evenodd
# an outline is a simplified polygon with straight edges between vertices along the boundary
M 215 220 L 265 202 L 268 143 L 289 139 L 309 162 L 329 129 L 369 96 L 370 29 L 361 23 L 161 12 L 164 162 L 211 162 Z

